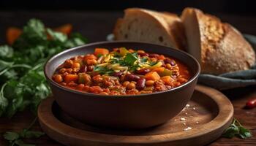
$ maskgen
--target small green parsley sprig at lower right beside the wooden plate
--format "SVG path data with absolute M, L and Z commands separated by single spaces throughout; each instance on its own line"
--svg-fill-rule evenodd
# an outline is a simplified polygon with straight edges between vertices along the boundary
M 222 137 L 230 139 L 233 137 L 240 137 L 241 139 L 246 139 L 252 137 L 252 133 L 248 129 L 244 128 L 238 120 L 234 119 L 233 123 L 225 129 Z

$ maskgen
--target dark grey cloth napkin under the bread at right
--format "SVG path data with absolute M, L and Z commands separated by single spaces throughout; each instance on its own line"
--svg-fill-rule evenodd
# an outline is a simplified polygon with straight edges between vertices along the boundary
M 252 45 L 256 52 L 256 37 L 244 34 L 244 37 Z M 219 75 L 200 74 L 198 83 L 208 85 L 219 90 L 256 85 L 256 64 L 251 69 L 238 72 L 230 72 Z

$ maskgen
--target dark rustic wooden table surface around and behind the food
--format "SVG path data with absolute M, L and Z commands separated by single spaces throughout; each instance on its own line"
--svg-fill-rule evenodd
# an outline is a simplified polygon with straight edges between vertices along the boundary
M 9 26 L 23 26 L 29 18 L 39 18 L 49 27 L 60 26 L 64 23 L 72 23 L 74 31 L 89 38 L 89 42 L 104 41 L 107 34 L 113 30 L 116 18 L 121 17 L 121 12 L 0 12 L 0 43 L 5 42 L 4 33 Z M 256 16 L 218 15 L 223 21 L 233 24 L 238 30 L 246 34 L 256 35 Z M 244 110 L 244 104 L 248 99 L 256 97 L 256 86 L 236 88 L 222 91 L 232 101 L 235 109 L 234 117 L 246 128 L 252 131 L 253 137 L 249 139 L 225 139 L 219 138 L 212 142 L 216 145 L 256 145 L 256 108 Z M 20 112 L 12 119 L 0 118 L 0 133 L 4 131 L 20 131 L 29 126 L 34 115 L 29 111 Z M 34 126 L 40 130 L 39 123 Z M 29 139 L 35 145 L 61 145 L 48 136 L 39 139 Z M 0 145 L 8 145 L 7 141 L 0 137 Z

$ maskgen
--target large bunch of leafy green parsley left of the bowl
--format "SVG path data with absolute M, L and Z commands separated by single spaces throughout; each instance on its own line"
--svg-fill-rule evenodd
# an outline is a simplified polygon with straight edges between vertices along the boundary
M 43 73 L 45 61 L 62 50 L 86 42 L 87 39 L 80 34 L 67 37 L 46 28 L 40 20 L 29 20 L 12 46 L 0 46 L 0 117 L 12 118 L 26 108 L 36 115 L 39 103 L 51 93 Z M 31 126 L 20 132 L 5 132 L 4 139 L 10 145 L 32 146 L 23 139 L 38 138 L 43 133 L 31 131 Z

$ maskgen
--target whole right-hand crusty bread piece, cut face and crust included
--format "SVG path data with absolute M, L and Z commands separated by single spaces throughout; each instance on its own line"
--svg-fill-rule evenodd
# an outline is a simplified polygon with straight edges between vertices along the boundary
M 203 73 L 235 72 L 255 64 L 252 46 L 230 24 L 195 8 L 184 9 L 181 20 L 187 36 L 187 51 L 200 61 Z

